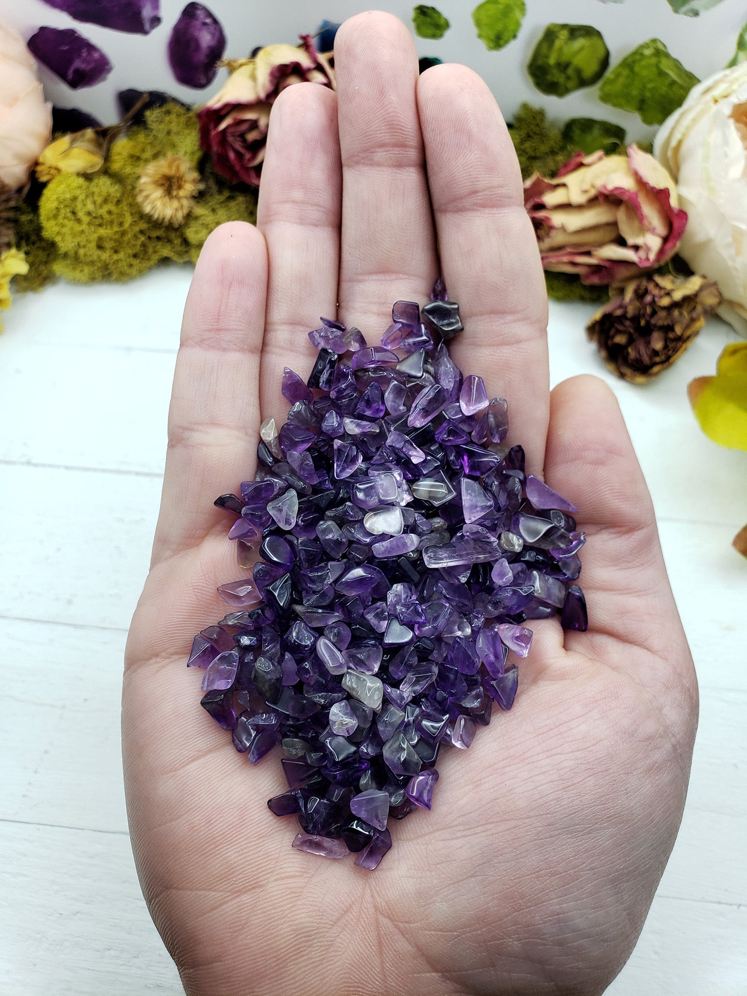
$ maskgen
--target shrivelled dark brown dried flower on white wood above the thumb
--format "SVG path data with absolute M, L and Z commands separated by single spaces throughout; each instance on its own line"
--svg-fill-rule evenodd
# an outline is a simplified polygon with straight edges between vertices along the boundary
M 587 332 L 613 373 L 644 383 L 684 353 L 720 303 L 705 277 L 653 274 L 625 284 Z

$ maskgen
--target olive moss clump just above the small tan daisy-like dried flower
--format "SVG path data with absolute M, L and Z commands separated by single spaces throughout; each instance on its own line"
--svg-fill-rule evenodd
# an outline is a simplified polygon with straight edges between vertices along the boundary
M 107 160 L 107 172 L 134 185 L 143 166 L 179 152 L 197 167 L 202 152 L 194 112 L 170 101 L 145 112 L 145 124 L 130 127 L 116 141 Z

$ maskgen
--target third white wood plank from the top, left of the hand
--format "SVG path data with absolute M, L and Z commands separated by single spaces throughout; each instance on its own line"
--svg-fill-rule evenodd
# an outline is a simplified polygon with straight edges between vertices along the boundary
M 160 489 L 158 478 L 0 466 L 0 616 L 126 629 Z

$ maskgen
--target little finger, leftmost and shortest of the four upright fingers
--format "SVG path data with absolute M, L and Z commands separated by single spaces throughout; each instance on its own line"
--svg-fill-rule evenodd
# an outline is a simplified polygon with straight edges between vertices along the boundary
M 168 413 L 153 564 L 199 543 L 223 516 L 215 498 L 255 466 L 267 251 L 252 225 L 221 225 L 189 289 Z

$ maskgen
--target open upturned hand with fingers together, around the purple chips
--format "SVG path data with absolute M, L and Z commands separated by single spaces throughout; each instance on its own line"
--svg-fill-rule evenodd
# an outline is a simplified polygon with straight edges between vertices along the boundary
M 697 694 L 640 469 L 593 377 L 548 388 L 546 299 L 521 180 L 488 89 L 417 75 L 378 13 L 336 44 L 339 93 L 274 107 L 258 227 L 208 239 L 189 293 L 152 567 L 127 646 L 132 844 L 190 994 L 600 993 L 640 930 L 681 816 Z M 199 708 L 191 638 L 241 573 L 214 497 L 252 475 L 284 366 L 308 373 L 320 315 L 370 342 L 441 272 L 452 353 L 508 398 L 530 469 L 579 507 L 588 633 L 537 622 L 516 705 L 439 759 L 431 813 L 371 873 L 292 851 L 253 768 Z

